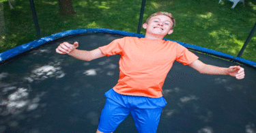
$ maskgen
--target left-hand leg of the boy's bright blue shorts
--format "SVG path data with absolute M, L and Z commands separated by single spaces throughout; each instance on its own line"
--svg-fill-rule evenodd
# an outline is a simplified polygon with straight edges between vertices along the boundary
M 117 102 L 106 98 L 106 104 L 100 115 L 100 123 L 97 132 L 114 132 L 119 123 L 129 115 L 130 109 L 126 108 Z

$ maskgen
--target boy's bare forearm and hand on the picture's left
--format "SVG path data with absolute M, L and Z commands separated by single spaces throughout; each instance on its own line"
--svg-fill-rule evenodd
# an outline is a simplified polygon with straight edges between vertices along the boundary
M 68 42 L 63 42 L 59 44 L 56 48 L 56 52 L 59 54 L 68 54 L 76 59 L 81 59 L 84 61 L 91 61 L 93 59 L 97 59 L 100 57 L 104 57 L 100 48 L 96 48 L 95 50 L 78 50 L 76 49 L 79 46 L 78 42 L 74 42 L 74 44 L 69 44 Z

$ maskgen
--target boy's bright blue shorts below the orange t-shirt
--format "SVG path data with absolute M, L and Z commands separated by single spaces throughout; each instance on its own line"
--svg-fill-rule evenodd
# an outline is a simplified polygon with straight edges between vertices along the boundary
M 156 132 L 162 107 L 167 102 L 164 98 L 147 98 L 143 96 L 121 95 L 113 89 L 105 93 L 106 104 L 100 115 L 98 130 L 114 132 L 130 113 L 139 133 Z

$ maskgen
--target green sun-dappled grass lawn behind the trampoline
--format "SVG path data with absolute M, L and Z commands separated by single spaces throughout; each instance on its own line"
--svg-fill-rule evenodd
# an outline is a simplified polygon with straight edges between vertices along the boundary
M 56 0 L 35 2 L 42 36 L 70 29 L 106 28 L 137 33 L 141 0 L 73 0 L 73 16 L 61 16 Z M 238 55 L 256 23 L 256 1 L 247 0 L 231 9 L 223 0 L 147 0 L 143 22 L 158 11 L 171 12 L 176 27 L 166 38 Z M 0 53 L 36 40 L 29 1 L 16 0 L 14 10 L 3 2 L 5 35 L 0 38 Z M 141 31 L 145 34 L 145 29 Z M 256 33 L 242 58 L 256 61 Z

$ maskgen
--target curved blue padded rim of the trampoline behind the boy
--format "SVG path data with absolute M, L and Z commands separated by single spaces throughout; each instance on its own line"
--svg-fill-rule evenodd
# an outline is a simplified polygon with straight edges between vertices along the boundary
M 6 61 L 7 59 L 10 59 L 12 57 L 15 57 L 16 55 L 19 55 L 20 53 L 24 53 L 27 50 L 31 50 L 37 46 L 41 46 L 42 44 L 45 44 L 47 42 L 51 42 L 54 40 L 57 40 L 59 38 L 64 38 L 67 37 L 69 35 L 78 35 L 78 34 L 83 34 L 83 33 L 112 33 L 112 34 L 118 34 L 118 35 L 126 35 L 126 36 L 132 36 L 132 37 L 137 37 L 137 38 L 144 38 L 145 35 L 140 34 L 140 33 L 132 33 L 132 32 L 128 32 L 128 31 L 119 31 L 119 30 L 113 30 L 113 29 L 101 29 L 101 28 L 96 28 L 96 29 L 73 29 L 73 30 L 69 30 L 69 31 L 63 31 L 60 33 L 55 33 L 53 35 L 49 35 L 47 37 L 44 38 L 40 38 L 39 40 L 34 40 L 32 42 L 29 42 L 27 44 L 23 44 L 20 46 L 17 46 L 15 48 L 12 48 L 10 50 L 6 50 L 3 53 L 0 53 L 0 63 L 3 63 L 4 61 Z M 164 40 L 169 40 L 169 39 L 165 39 Z M 218 52 L 216 50 L 211 50 L 208 48 L 203 48 L 201 46 L 195 46 L 193 44 L 186 44 L 184 42 L 178 42 L 175 40 L 171 40 L 174 42 L 177 42 L 178 44 L 181 44 L 182 46 L 185 46 L 186 48 L 192 49 L 192 50 L 197 50 L 201 53 L 207 53 L 209 55 L 214 55 L 216 57 L 221 57 L 224 59 L 228 59 L 230 61 L 236 61 L 238 63 L 242 63 L 245 65 L 251 65 L 254 68 L 256 68 L 256 62 L 247 60 L 247 59 L 242 59 L 240 57 L 234 57 L 232 55 L 228 55 L 225 53 L 221 53 Z

